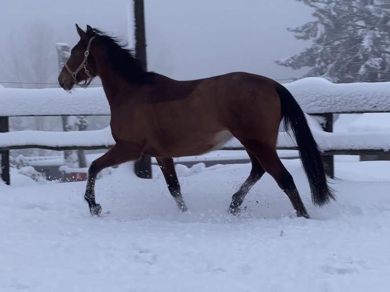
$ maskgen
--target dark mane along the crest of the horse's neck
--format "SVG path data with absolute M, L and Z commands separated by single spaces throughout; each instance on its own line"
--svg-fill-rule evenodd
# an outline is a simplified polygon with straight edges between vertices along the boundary
M 141 62 L 135 59 L 133 51 L 121 45 L 119 39 L 107 36 L 97 28 L 93 28 L 87 34 L 96 36 L 106 47 L 108 62 L 124 79 L 132 83 L 153 82 L 153 72 L 145 71 Z

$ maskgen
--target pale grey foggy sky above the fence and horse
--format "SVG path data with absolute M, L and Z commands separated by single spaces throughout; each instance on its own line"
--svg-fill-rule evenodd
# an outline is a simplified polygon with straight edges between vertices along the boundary
M 131 7 L 131 0 L 3 0 L 0 56 L 12 54 L 7 45 L 10 36 L 18 46 L 27 46 L 27 28 L 31 30 L 37 22 L 52 28 L 52 43 L 46 45 L 53 47 L 53 56 L 55 42 L 71 46 L 77 42 L 75 23 L 122 38 L 128 34 L 131 44 L 133 20 L 129 25 L 127 20 Z M 311 12 L 296 0 L 145 0 L 148 69 L 176 79 L 231 71 L 275 79 L 299 77 L 304 70 L 291 70 L 274 61 L 310 46 L 308 41 L 296 40 L 286 27 L 311 20 Z

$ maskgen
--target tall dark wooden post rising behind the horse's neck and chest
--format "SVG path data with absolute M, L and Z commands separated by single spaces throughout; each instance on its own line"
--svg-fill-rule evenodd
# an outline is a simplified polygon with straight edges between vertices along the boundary
M 134 22 L 135 57 L 141 62 L 142 68 L 147 71 L 144 0 L 134 0 Z M 150 157 L 146 155 L 141 156 L 135 162 L 134 171 L 139 178 L 151 179 L 152 165 Z

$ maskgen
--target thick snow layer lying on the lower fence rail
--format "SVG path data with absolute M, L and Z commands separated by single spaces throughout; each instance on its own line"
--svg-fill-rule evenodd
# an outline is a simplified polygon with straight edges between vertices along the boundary
M 390 150 L 390 133 L 388 131 L 370 130 L 354 132 L 328 133 L 321 130 L 319 124 L 307 115 L 309 125 L 321 151 L 330 150 Z M 375 122 L 374 122 L 375 123 Z M 23 145 L 34 148 L 44 145 L 46 148 L 61 147 L 89 147 L 109 148 L 115 144 L 110 128 L 94 131 L 15 131 L 0 133 L 0 148 L 12 148 Z M 237 139 L 227 142 L 224 147 L 242 148 Z M 278 135 L 277 147 L 279 149 L 294 149 L 295 141 L 285 132 Z

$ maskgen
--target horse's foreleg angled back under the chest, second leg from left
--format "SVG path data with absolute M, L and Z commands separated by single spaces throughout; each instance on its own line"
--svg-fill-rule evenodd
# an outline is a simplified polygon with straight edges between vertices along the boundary
M 168 189 L 171 195 L 173 196 L 173 198 L 175 199 L 180 211 L 182 212 L 187 211 L 187 206 L 185 205 L 183 196 L 181 195 L 180 184 L 177 179 L 173 159 L 156 157 L 156 160 L 165 178 L 166 185 L 168 186 Z

